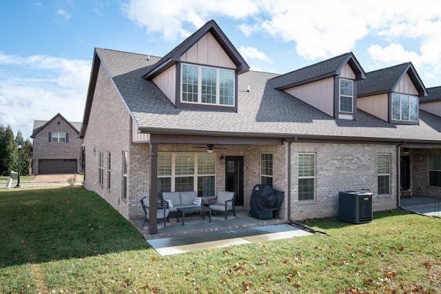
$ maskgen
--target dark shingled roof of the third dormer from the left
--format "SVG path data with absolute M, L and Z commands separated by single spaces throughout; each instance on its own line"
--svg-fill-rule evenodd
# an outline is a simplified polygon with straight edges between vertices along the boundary
M 365 97 L 392 92 L 406 72 L 416 86 L 419 95 L 426 95 L 424 85 L 411 62 L 367 72 L 367 78 L 357 82 L 357 95 Z

